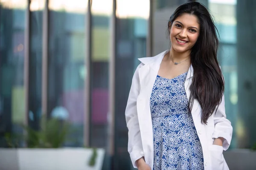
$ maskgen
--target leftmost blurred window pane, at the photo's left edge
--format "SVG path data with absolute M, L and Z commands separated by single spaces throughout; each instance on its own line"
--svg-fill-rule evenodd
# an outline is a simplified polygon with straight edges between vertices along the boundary
M 0 2 L 0 147 L 7 147 L 6 133 L 22 133 L 26 115 L 23 79 L 26 7 L 27 0 Z

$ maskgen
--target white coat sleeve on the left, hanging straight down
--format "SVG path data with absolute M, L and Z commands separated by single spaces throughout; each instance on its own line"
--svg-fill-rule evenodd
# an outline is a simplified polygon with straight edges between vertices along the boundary
M 140 93 L 139 69 L 142 65 L 141 63 L 137 67 L 132 78 L 131 89 L 125 109 L 125 119 L 128 127 L 128 152 L 135 168 L 137 168 L 136 161 L 144 156 L 137 115 L 137 97 Z

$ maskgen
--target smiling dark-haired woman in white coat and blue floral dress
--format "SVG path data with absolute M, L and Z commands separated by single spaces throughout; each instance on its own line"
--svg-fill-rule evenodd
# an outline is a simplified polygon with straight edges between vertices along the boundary
M 169 50 L 141 58 L 125 111 L 128 152 L 139 170 L 228 170 L 218 37 L 207 8 L 179 6 L 168 23 Z

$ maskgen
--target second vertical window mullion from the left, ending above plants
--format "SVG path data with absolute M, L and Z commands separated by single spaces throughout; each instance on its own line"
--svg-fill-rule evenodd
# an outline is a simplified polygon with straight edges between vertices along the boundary
M 43 11 L 43 52 L 42 52 L 42 115 L 47 115 L 48 101 L 48 0 Z

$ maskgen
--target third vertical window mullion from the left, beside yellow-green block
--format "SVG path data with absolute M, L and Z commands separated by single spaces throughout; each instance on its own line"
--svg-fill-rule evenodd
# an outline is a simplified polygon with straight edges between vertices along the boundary
M 84 78 L 84 146 L 90 146 L 90 62 L 91 62 L 91 0 L 87 2 L 87 14 L 85 18 L 85 49 L 84 56 L 86 76 Z

